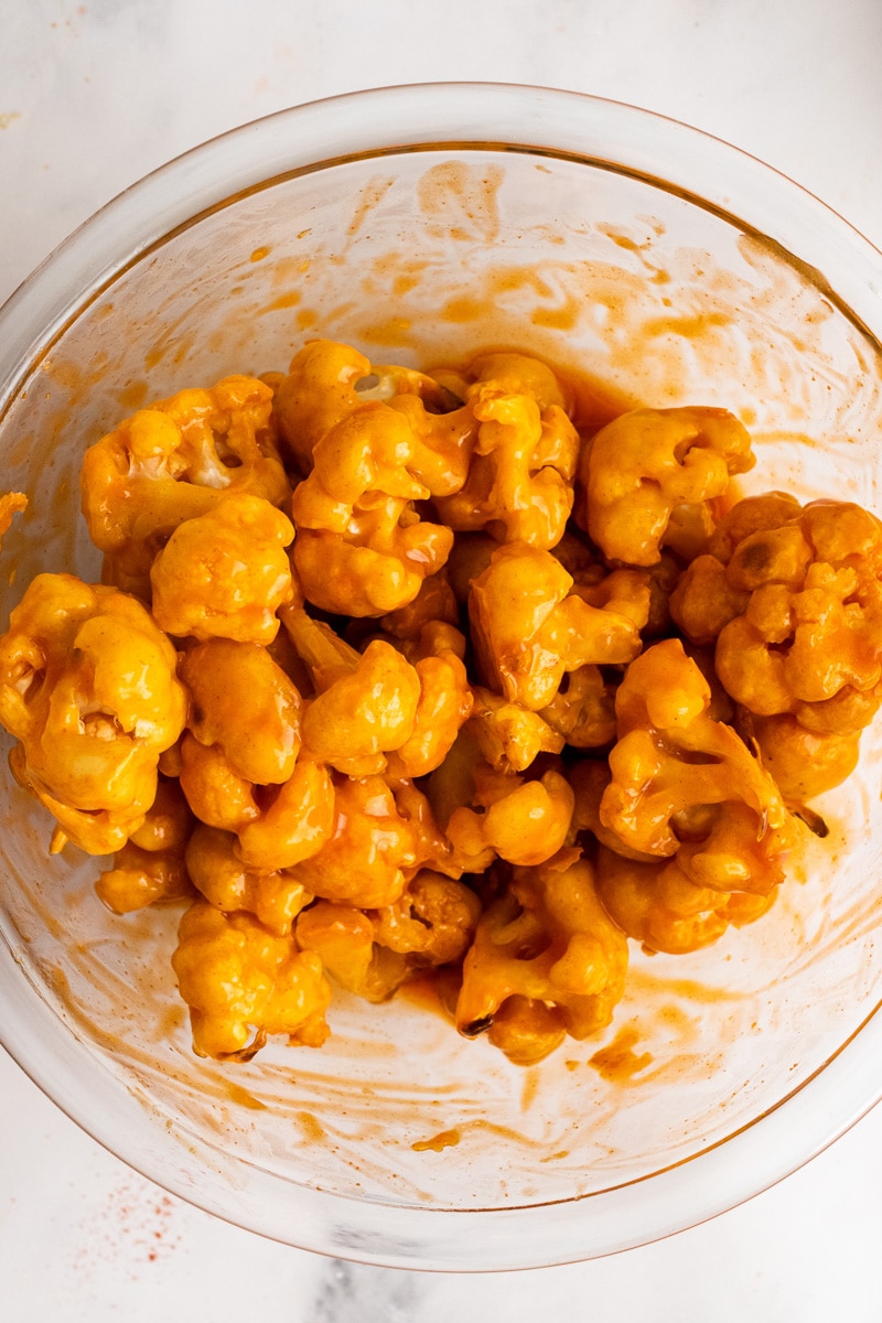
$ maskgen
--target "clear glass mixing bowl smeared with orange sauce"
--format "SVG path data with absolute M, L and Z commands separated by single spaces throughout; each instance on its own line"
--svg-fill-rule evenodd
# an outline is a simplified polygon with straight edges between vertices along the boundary
M 882 257 L 815 198 L 627 106 L 438 85 L 249 124 L 116 198 L 1 314 L 1 486 L 32 499 L 4 618 L 41 569 L 98 573 L 89 443 L 316 335 L 424 366 L 516 345 L 619 397 L 723 405 L 755 438 L 747 491 L 879 511 L 881 288 Z M 882 1090 L 881 758 L 870 732 L 764 919 L 635 950 L 611 1028 L 529 1069 L 414 995 L 339 995 L 319 1052 L 194 1057 L 177 912 L 106 912 L 95 861 L 50 857 L 7 775 L 0 1033 L 132 1167 L 292 1245 L 479 1270 L 644 1244 L 784 1176 Z

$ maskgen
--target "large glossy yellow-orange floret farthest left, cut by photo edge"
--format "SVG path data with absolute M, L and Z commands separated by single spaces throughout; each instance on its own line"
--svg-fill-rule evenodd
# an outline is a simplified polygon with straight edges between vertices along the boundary
M 186 696 L 175 648 L 135 598 L 40 574 L 0 640 L 0 721 L 17 779 L 93 855 L 120 848 L 156 795 Z M 61 840 L 61 837 L 60 837 Z

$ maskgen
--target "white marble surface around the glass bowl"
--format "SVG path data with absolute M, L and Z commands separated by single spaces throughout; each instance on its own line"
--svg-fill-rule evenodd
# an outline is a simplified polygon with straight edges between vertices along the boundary
M 685 119 L 882 243 L 881 56 L 879 0 L 1 0 L 0 298 L 97 206 L 205 138 L 428 79 L 546 83 Z M 164 1195 L 0 1053 L 0 1318 L 871 1323 L 881 1175 L 882 1109 L 775 1189 L 645 1249 L 484 1278 L 387 1271 Z

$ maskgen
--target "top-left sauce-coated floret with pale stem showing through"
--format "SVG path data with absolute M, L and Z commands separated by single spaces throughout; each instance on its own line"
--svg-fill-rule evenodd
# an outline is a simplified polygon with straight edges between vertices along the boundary
M 233 492 L 272 505 L 291 486 L 270 433 L 272 392 L 254 377 L 181 390 L 120 423 L 83 455 L 89 533 L 104 552 L 104 578 L 149 597 L 156 553 L 184 520 Z

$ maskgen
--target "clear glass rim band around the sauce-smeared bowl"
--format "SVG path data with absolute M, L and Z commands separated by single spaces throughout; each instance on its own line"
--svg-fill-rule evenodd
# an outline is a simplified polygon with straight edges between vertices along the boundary
M 70 320 L 179 228 L 280 177 L 353 156 L 454 146 L 565 156 L 678 192 L 779 246 L 840 311 L 875 343 L 882 339 L 882 254 L 755 157 L 677 120 L 578 93 L 502 83 L 409 85 L 311 102 L 245 124 L 169 161 L 95 213 L 0 308 L 0 422 L 24 377 Z M 222 1197 L 163 1160 L 140 1101 L 112 1081 L 108 1086 L 110 1077 L 100 1072 L 83 1070 L 86 1049 L 22 976 L 5 943 L 0 995 L 0 1041 L 11 1056 L 77 1125 L 132 1168 L 271 1238 L 387 1266 L 549 1266 L 651 1242 L 768 1188 L 882 1095 L 882 1017 L 874 1011 L 789 1098 L 722 1143 L 641 1181 L 575 1200 L 454 1212 L 292 1187 L 250 1167 L 250 1197 L 237 1208 L 233 1191 Z M 212 1155 L 216 1163 L 217 1152 L 206 1144 L 209 1166 Z M 197 1146 L 196 1170 L 198 1162 Z

